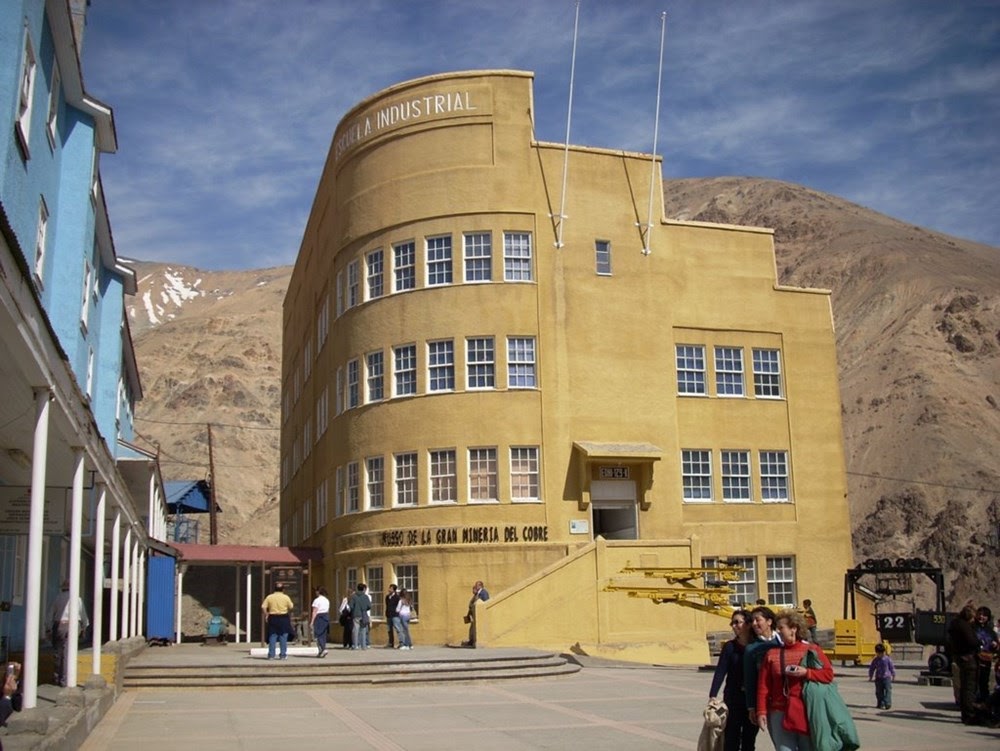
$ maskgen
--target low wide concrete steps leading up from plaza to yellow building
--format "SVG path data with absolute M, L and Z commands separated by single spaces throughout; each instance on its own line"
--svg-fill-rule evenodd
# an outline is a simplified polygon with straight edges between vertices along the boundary
M 298 651 L 298 650 L 295 650 Z M 421 655 L 380 650 L 332 650 L 317 658 L 315 650 L 287 660 L 267 660 L 253 655 L 234 662 L 229 654 L 197 664 L 129 663 L 123 674 L 125 689 L 235 688 L 289 686 L 365 686 L 440 681 L 500 680 L 567 675 L 580 666 L 551 652 L 491 654 L 492 650 L 430 649 Z M 244 653 L 245 655 L 245 653 Z M 377 659 L 365 659 L 371 655 Z

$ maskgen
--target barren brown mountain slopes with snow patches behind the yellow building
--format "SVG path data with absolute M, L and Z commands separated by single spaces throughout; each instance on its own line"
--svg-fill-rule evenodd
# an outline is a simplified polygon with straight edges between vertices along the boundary
M 857 560 L 920 557 L 945 570 L 951 604 L 995 600 L 1000 250 L 774 180 L 664 194 L 669 217 L 774 228 L 780 283 L 833 291 Z M 134 265 L 138 442 L 159 444 L 168 479 L 204 477 L 211 422 L 220 541 L 276 543 L 291 268 Z

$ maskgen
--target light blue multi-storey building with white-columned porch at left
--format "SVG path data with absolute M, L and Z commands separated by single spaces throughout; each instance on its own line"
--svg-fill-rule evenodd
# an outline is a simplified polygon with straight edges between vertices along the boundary
M 103 643 L 143 633 L 142 572 L 166 537 L 157 458 L 132 443 L 136 279 L 101 186 L 114 116 L 83 85 L 88 4 L 0 4 L 0 649 L 23 659 L 28 707 L 53 679 L 38 666 L 61 583 L 57 617 L 88 620 L 79 596 L 99 672 Z

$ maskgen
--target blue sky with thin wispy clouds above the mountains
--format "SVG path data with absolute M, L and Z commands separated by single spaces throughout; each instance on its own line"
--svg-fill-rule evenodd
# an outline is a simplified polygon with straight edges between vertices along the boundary
M 118 254 L 293 263 L 333 132 L 395 83 L 535 73 L 566 135 L 574 0 L 93 0 L 88 92 Z M 1000 246 L 1000 0 L 582 0 L 570 141 L 666 177 L 800 183 Z

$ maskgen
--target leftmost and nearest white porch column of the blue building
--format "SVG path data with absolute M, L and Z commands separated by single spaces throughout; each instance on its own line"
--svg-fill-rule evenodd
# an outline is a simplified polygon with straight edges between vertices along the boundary
M 42 522 L 45 520 L 45 467 L 49 446 L 49 392 L 35 392 L 35 435 L 31 454 L 31 510 L 28 516 L 28 579 L 24 602 L 24 665 L 22 700 L 25 709 L 38 704 L 38 628 L 42 609 Z

